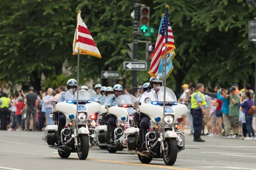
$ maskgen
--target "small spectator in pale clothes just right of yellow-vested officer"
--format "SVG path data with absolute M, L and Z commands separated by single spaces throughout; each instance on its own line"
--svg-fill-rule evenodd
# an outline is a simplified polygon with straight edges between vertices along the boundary
M 219 136 L 218 122 L 217 122 L 217 116 L 216 116 L 216 100 L 212 100 L 212 102 L 211 102 L 209 121 L 211 122 L 212 133 L 209 134 L 208 136 L 210 136 L 210 137 Z

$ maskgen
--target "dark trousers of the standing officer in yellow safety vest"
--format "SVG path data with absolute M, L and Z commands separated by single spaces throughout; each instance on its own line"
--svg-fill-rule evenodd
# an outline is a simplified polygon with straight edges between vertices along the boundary
M 203 128 L 203 113 L 201 110 L 191 109 L 193 116 L 194 138 L 200 138 Z

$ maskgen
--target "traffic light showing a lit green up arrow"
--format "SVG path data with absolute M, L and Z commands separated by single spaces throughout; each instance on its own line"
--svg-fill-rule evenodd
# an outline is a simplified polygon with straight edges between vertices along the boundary
M 149 28 L 149 13 L 150 8 L 148 6 L 140 7 L 140 30 L 142 33 L 146 33 Z

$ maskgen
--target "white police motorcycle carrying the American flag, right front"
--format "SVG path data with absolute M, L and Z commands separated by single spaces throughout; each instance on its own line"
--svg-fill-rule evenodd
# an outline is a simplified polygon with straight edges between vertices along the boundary
M 177 153 L 185 149 L 185 137 L 179 130 L 179 124 L 183 120 L 181 116 L 187 113 L 187 103 L 178 103 L 174 92 L 166 87 L 166 108 L 162 120 L 164 87 L 158 88 L 162 99 L 151 101 L 146 98 L 145 104 L 139 107 L 139 111 L 151 119 L 145 142 L 140 145 L 139 128 L 132 126 L 126 130 L 123 144 L 128 147 L 129 153 L 138 154 L 142 163 L 150 163 L 153 158 L 163 158 L 166 165 L 173 165 Z M 135 107 L 139 104 L 135 102 Z

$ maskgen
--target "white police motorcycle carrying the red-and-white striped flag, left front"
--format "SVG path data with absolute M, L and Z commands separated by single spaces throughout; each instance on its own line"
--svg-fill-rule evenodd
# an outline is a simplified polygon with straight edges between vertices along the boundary
M 97 134 L 95 129 L 90 128 L 90 123 L 92 115 L 100 111 L 100 105 L 90 100 L 90 94 L 87 91 L 81 90 L 79 91 L 78 116 L 76 116 L 77 92 L 73 95 L 73 90 L 66 92 L 64 102 L 52 101 L 55 110 L 51 111 L 50 117 L 55 121 L 55 125 L 48 125 L 45 128 L 42 139 L 47 142 L 49 148 L 58 149 L 61 158 L 68 158 L 70 153 L 77 153 L 79 159 L 84 160 L 88 156 L 89 148 L 96 145 L 90 141 L 90 136 L 93 135 L 90 131 L 95 131 Z M 61 146 L 55 144 L 58 143 L 58 126 L 56 125 L 58 112 L 63 113 L 67 119 L 64 129 L 61 130 Z

